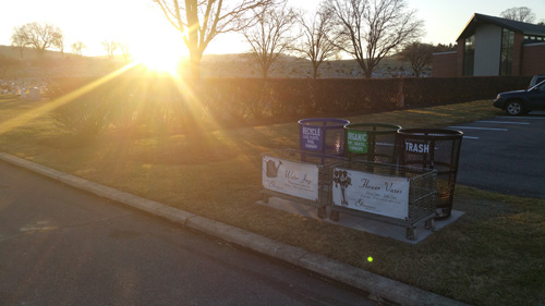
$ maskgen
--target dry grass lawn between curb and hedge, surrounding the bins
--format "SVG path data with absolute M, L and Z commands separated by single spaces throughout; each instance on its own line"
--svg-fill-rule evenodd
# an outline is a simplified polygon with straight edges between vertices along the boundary
M 298 148 L 296 122 L 210 132 L 198 144 L 181 135 L 82 139 L 37 111 L 48 103 L 0 97 L 0 150 L 469 304 L 545 303 L 544 200 L 457 185 L 453 208 L 465 215 L 410 245 L 255 205 L 261 154 Z M 434 127 L 496 114 L 481 100 L 346 119 Z

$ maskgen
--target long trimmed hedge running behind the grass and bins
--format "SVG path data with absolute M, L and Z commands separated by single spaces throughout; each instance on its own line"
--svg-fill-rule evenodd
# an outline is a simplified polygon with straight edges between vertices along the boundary
M 181 82 L 165 76 L 119 75 L 107 82 L 97 77 L 52 78 L 51 91 L 55 98 L 81 90 L 85 93 L 82 100 L 86 102 L 89 96 L 108 97 L 111 124 L 118 128 L 154 120 L 168 126 L 164 128 L 184 130 L 195 120 L 233 125 L 250 120 L 279 122 L 492 100 L 500 91 L 525 88 L 530 78 L 205 78 Z M 198 112 L 195 112 L 195 101 L 202 106 Z M 88 106 L 85 109 L 88 110 Z

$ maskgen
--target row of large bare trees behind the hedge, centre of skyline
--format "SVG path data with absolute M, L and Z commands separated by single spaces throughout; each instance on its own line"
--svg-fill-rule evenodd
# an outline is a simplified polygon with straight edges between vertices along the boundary
M 386 56 L 421 38 L 424 26 L 405 0 L 323 1 L 312 13 L 286 0 L 154 1 L 183 35 L 194 78 L 208 44 L 228 32 L 242 33 L 263 77 L 282 53 L 308 59 L 317 77 L 319 65 L 341 51 L 371 77 Z

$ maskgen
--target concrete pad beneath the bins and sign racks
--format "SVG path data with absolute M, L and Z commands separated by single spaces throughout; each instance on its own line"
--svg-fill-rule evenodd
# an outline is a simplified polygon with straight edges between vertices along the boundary
M 306 217 L 310 219 L 322 220 L 327 223 L 336 224 L 339 227 L 351 228 L 354 230 L 372 233 L 375 235 L 391 237 L 400 242 L 417 244 L 424 241 L 426 237 L 431 236 L 434 231 L 427 230 L 424 227 L 424 221 L 420 222 L 416 227 L 416 240 L 411 241 L 407 238 L 407 229 L 403 227 L 392 225 L 379 221 L 370 220 L 362 217 L 355 217 L 351 215 L 340 213 L 339 221 L 335 222 L 328 218 L 319 219 L 318 218 L 318 209 L 312 206 L 303 205 L 300 203 L 278 198 L 270 197 L 268 203 L 263 200 L 256 201 L 258 205 L 267 206 L 270 208 L 283 210 L 290 213 L 295 213 L 302 217 Z M 327 216 L 329 216 L 329 209 L 327 211 Z M 458 218 L 463 216 L 463 211 L 452 210 L 450 218 L 447 220 L 435 221 L 435 231 L 439 231 L 440 229 L 453 223 Z

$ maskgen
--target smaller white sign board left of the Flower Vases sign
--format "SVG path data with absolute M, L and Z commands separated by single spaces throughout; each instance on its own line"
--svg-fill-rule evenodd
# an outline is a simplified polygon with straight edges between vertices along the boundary
M 318 200 L 318 166 L 263 157 L 263 187 L 310 200 Z

